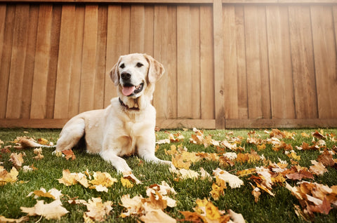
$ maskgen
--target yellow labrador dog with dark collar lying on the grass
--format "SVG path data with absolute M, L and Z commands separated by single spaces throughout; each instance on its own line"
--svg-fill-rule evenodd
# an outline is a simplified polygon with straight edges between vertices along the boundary
M 62 128 L 55 151 L 72 149 L 84 137 L 89 153 L 100 154 L 124 175 L 131 173 L 121 156 L 138 154 L 145 161 L 165 163 L 154 155 L 156 110 L 151 104 L 154 83 L 164 67 L 149 55 L 123 55 L 110 77 L 118 97 L 106 109 L 74 116 Z

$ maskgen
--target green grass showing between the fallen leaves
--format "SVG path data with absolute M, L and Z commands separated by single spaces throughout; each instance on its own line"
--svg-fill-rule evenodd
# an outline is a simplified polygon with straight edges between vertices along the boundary
M 24 133 L 24 131 L 27 131 L 28 133 Z M 183 142 L 161 144 L 156 153 L 157 157 L 170 160 L 171 156 L 166 155 L 164 150 L 169 150 L 172 144 L 183 144 L 187 147 L 188 151 L 217 152 L 216 148 L 213 146 L 204 148 L 203 145 L 191 144 L 189 138 L 193 133 L 192 130 L 180 131 L 185 136 L 185 140 Z M 258 150 L 256 145 L 246 143 L 246 137 L 248 137 L 247 133 L 250 130 L 205 130 L 204 135 L 211 134 L 212 138 L 215 140 L 224 140 L 225 134 L 230 131 L 233 132 L 233 135 L 244 137 L 241 146 L 246 149 L 246 152 L 250 152 L 251 149 Z M 287 131 L 296 133 L 295 140 L 284 139 L 284 142 L 291 143 L 293 148 L 295 148 L 303 142 L 311 144 L 312 137 L 305 138 L 302 137 L 300 133 L 310 134 L 315 130 L 287 129 Z M 170 132 L 176 133 L 177 130 L 170 130 Z M 2 148 L 9 144 L 13 145 L 10 141 L 13 141 L 15 137 L 23 135 L 34 137 L 36 139 L 43 137 L 55 144 L 58 140 L 59 133 L 60 130 L 0 129 L 0 140 L 5 142 L 2 145 Z M 256 133 L 258 133 L 262 139 L 269 138 L 269 135 L 264 133 L 263 130 L 256 130 Z M 333 133 L 334 135 L 337 135 L 337 129 L 324 129 L 324 133 Z M 168 137 L 167 133 L 164 131 L 157 132 L 156 134 L 157 140 Z M 334 145 L 336 145 L 336 142 L 326 140 L 326 147 L 329 149 Z M 34 164 L 34 167 L 36 167 L 37 170 L 28 173 L 23 173 L 22 170 L 20 170 L 18 182 L 0 186 L 0 215 L 3 215 L 4 217 L 18 218 L 24 216 L 25 213 L 21 212 L 20 207 L 32 207 L 36 203 L 36 200 L 33 197 L 27 197 L 27 194 L 44 187 L 47 191 L 52 188 L 59 189 L 62 191 L 62 194 L 66 194 L 70 198 L 78 197 L 79 199 L 88 201 L 88 199 L 92 197 L 101 197 L 103 201 L 112 201 L 114 206 L 112 212 L 110 212 L 110 215 L 107 217 L 107 222 L 137 222 L 138 219 L 136 217 L 127 217 L 124 219 L 119 217 L 124 210 L 124 208 L 119 205 L 121 196 L 130 194 L 132 198 L 133 196 L 141 194 L 145 197 L 146 187 L 152 184 L 160 184 L 161 181 L 164 180 L 177 192 L 176 196 L 173 197 L 178 201 L 177 206 L 175 208 L 166 208 L 165 210 L 175 219 L 183 219 L 183 215 L 180 214 L 180 211 L 193 211 L 192 208 L 195 207 L 197 198 L 209 198 L 219 210 L 232 209 L 234 212 L 241 213 L 244 219 L 246 219 L 246 222 L 305 222 L 296 215 L 293 208 L 293 205 L 299 205 L 298 200 L 292 196 L 291 192 L 285 187 L 273 187 L 272 192 L 275 194 L 275 197 L 262 192 L 260 201 L 255 203 L 254 198 L 251 195 L 252 187 L 249 184 L 249 182 L 251 182 L 249 176 L 241 177 L 241 179 L 244 180 L 244 186 L 238 189 L 230 189 L 230 187 L 227 187 L 227 189 L 225 189 L 225 194 L 220 196 L 218 201 L 214 201 L 209 194 L 212 182 L 206 180 L 180 180 L 177 182 L 167 166 L 146 163 L 141 161 L 137 156 L 126 157 L 126 162 L 130 165 L 131 169 L 133 169 L 133 174 L 136 175 L 143 184 L 135 185 L 128 189 L 121 185 L 119 180 L 121 175 L 117 174 L 112 165 L 103 161 L 100 156 L 86 154 L 86 152 L 81 149 L 74 149 L 74 154 L 77 156 L 74 161 L 67 161 L 65 158 L 53 156 L 53 149 L 44 149 L 44 158 L 39 161 L 33 159 L 35 156 L 33 149 L 25 149 L 24 151 L 27 156 L 24 157 L 25 163 L 23 165 Z M 12 148 L 11 152 L 20 151 Z M 267 148 L 263 151 L 258 151 L 258 154 L 264 154 L 265 158 L 272 162 L 278 162 L 278 158 L 281 158 L 290 163 L 288 156 L 286 156 L 283 151 L 274 151 L 272 150 L 271 145 L 267 145 Z M 310 160 L 317 159 L 319 151 L 297 151 L 297 154 L 301 156 L 299 165 L 309 168 L 311 165 Z M 0 153 L 0 162 L 3 162 L 3 164 L 0 165 L 3 165 L 6 170 L 11 170 L 12 167 L 12 163 L 8 161 L 9 156 L 10 154 L 8 153 Z M 334 156 L 333 158 L 337 157 Z M 237 170 L 255 168 L 260 165 L 263 165 L 263 163 L 235 163 L 234 166 L 229 166 L 225 168 L 225 170 L 230 173 L 235 173 Z M 190 169 L 199 170 L 200 167 L 203 167 L 208 173 L 212 174 L 213 170 L 219 167 L 219 163 L 216 161 L 199 161 L 198 163 L 193 163 Z M 72 173 L 79 173 L 86 169 L 107 172 L 110 173 L 112 177 L 117 178 L 119 182 L 114 184 L 114 186 L 109 189 L 108 193 L 86 189 L 79 184 L 66 187 L 56 180 L 62 177 L 62 170 L 65 169 L 69 169 Z M 329 172 L 325 173 L 323 176 L 315 176 L 315 180 L 313 181 L 320 184 L 326 184 L 329 187 L 337 185 L 337 170 L 335 168 L 328 168 L 328 170 Z M 296 184 L 296 181 L 287 180 L 287 182 L 291 185 Z M 83 222 L 83 213 L 86 211 L 86 207 L 84 205 L 70 205 L 67 203 L 67 196 L 62 198 L 62 204 L 68 211 L 70 211 L 70 213 L 61 217 L 57 222 Z M 44 200 L 50 202 L 48 199 Z M 337 222 L 337 209 L 331 210 L 329 215 L 315 214 L 315 217 L 311 220 L 312 222 Z M 40 216 L 29 217 L 29 222 L 37 221 L 55 222 L 55 220 L 40 219 Z

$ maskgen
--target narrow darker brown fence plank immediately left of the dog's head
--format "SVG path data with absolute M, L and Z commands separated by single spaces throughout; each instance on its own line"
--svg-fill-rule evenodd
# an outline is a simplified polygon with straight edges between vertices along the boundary
M 105 55 L 107 51 L 107 6 L 100 6 L 98 10 L 98 36 L 97 53 L 95 65 L 95 100 L 94 109 L 104 107 L 104 87 L 105 87 Z

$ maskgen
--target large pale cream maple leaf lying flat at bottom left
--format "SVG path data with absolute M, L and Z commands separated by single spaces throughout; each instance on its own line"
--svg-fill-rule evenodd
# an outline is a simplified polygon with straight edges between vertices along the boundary
M 67 209 L 62 207 L 60 200 L 46 204 L 44 204 L 44 201 L 37 201 L 37 204 L 32 208 L 20 207 L 20 209 L 29 216 L 41 215 L 46 217 L 46 219 L 60 219 L 68 212 Z

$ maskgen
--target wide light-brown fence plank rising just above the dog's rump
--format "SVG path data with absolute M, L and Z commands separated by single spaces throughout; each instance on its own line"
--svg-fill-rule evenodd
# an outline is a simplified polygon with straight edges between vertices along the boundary
M 62 6 L 60 27 L 60 48 L 58 53 L 58 73 L 55 89 L 55 119 L 67 119 L 70 98 L 70 79 L 74 51 L 75 6 Z

